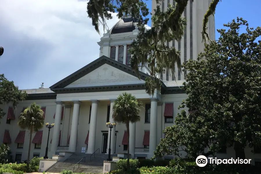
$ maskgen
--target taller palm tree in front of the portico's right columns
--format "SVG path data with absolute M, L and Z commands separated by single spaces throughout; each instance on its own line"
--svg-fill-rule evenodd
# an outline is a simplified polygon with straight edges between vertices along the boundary
M 136 123 L 140 121 L 140 107 L 142 102 L 139 102 L 136 97 L 130 93 L 123 93 L 115 100 L 113 104 L 113 115 L 112 118 L 117 123 L 126 124 L 127 135 L 128 135 L 128 159 L 127 159 L 127 170 L 129 169 L 130 159 L 130 123 Z

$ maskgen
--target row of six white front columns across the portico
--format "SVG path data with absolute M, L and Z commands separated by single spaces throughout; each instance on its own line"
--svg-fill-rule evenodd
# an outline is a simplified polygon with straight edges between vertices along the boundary
M 113 104 L 115 99 L 111 99 L 110 102 L 110 122 L 115 122 L 112 118 L 113 115 Z M 78 122 L 79 122 L 79 110 L 81 101 L 72 101 L 73 102 L 73 116 L 72 116 L 72 126 L 70 131 L 70 144 L 68 151 L 75 152 L 77 144 L 77 133 L 78 133 Z M 98 110 L 98 100 L 91 100 L 92 109 L 90 116 L 90 128 L 89 128 L 89 139 L 88 139 L 88 148 L 86 153 L 92 154 L 95 149 L 95 139 L 96 139 L 96 130 L 97 130 L 97 110 Z M 64 102 L 56 102 L 56 112 L 55 112 L 55 126 L 53 128 L 52 135 L 52 144 L 51 144 L 51 154 L 55 154 L 57 151 L 57 146 L 59 143 L 59 133 L 60 133 L 60 121 L 61 121 L 61 112 L 62 105 Z M 117 127 L 117 126 L 116 126 Z M 110 129 L 108 130 L 108 140 L 110 139 Z M 115 151 L 115 128 L 112 128 L 111 132 L 111 154 Z M 135 154 L 135 137 L 136 137 L 136 123 L 130 124 L 130 154 L 134 158 Z M 149 141 L 149 154 L 148 157 L 153 156 L 153 151 L 156 150 L 157 146 L 157 99 L 151 99 L 151 119 L 150 119 L 150 141 Z M 107 144 L 107 149 L 109 149 L 109 141 Z M 108 150 L 107 150 L 108 153 Z

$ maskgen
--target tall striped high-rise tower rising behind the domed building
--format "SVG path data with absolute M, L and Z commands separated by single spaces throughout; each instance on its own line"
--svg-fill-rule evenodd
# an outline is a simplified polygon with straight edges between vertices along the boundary
M 184 36 L 180 41 L 173 40 L 166 43 L 168 46 L 175 46 L 177 50 L 181 51 L 181 63 L 188 59 L 197 59 L 197 55 L 204 50 L 204 42 L 202 43 L 202 22 L 206 11 L 209 8 L 209 4 L 212 0 L 194 0 L 188 1 L 188 4 L 182 14 L 182 17 L 186 17 L 187 25 L 184 30 Z M 167 11 L 168 4 L 176 5 L 174 0 L 162 0 L 161 6 L 162 11 Z M 152 0 L 152 15 L 156 9 L 157 3 Z M 152 23 L 153 26 L 153 23 Z M 211 15 L 209 17 L 209 22 L 207 23 L 207 32 L 211 40 L 215 40 L 215 17 Z M 176 69 L 176 80 L 186 79 L 186 72 L 180 72 Z M 171 72 L 166 70 L 165 73 L 160 75 L 162 81 L 172 81 L 175 80 Z

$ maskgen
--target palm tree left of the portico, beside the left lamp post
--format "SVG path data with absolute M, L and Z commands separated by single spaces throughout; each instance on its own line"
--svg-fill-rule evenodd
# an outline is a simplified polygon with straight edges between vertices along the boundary
M 32 144 L 32 133 L 37 132 L 44 127 L 44 112 L 41 110 L 41 106 L 35 103 L 26 108 L 23 113 L 20 114 L 18 126 L 22 129 L 28 129 L 30 133 L 29 150 L 27 157 L 27 165 L 30 162 L 30 150 Z

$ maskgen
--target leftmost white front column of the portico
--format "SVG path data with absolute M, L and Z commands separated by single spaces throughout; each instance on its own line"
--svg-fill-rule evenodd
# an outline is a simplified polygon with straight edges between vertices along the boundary
M 62 105 L 63 105 L 63 102 L 60 102 L 60 101 L 56 102 L 55 126 L 52 128 L 53 132 L 52 132 L 52 144 L 51 144 L 50 155 L 55 155 L 55 152 L 57 151 L 57 146 L 59 143 Z M 51 156 L 50 156 L 50 158 L 51 158 Z

